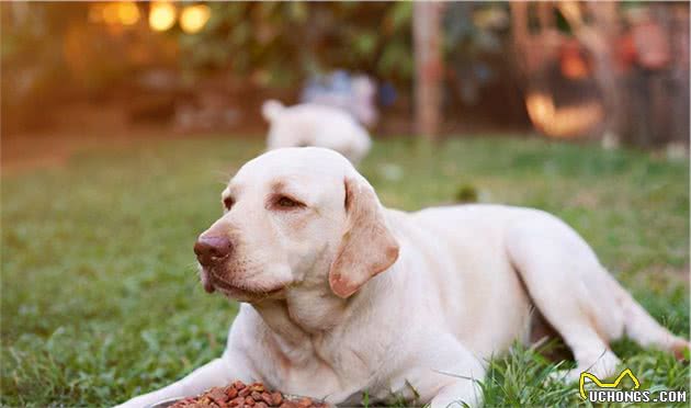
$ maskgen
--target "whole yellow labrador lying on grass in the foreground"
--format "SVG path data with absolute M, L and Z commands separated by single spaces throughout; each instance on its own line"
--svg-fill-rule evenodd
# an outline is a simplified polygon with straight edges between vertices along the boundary
M 382 206 L 341 155 L 285 148 L 246 163 L 194 246 L 201 280 L 242 302 L 223 356 L 125 404 L 234 379 L 353 405 L 396 395 L 482 404 L 486 362 L 537 310 L 573 351 L 573 379 L 616 373 L 609 342 L 681 351 L 566 224 L 536 209 Z

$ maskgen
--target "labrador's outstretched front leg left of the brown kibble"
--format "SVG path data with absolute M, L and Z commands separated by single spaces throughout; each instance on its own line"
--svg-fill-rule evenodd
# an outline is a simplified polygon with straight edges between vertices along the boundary
M 196 369 L 184 378 L 161 389 L 132 398 L 116 408 L 143 408 L 165 399 L 195 396 L 208 388 L 225 386 L 236 379 L 249 383 L 254 378 L 243 360 L 240 355 L 226 351 L 220 359 Z

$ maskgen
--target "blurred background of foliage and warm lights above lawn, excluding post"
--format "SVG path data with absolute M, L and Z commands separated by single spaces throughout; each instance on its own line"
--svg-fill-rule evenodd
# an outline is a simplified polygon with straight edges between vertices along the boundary
M 297 102 L 308 81 L 344 70 L 387 87 L 375 133 L 420 134 L 416 4 L 2 2 L 2 133 L 260 133 L 265 99 Z M 441 134 L 533 128 L 688 150 L 688 2 L 440 10 Z

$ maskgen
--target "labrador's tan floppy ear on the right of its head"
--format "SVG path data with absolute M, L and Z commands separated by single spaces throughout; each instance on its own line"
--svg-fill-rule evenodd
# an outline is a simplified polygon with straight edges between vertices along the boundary
M 349 178 L 344 184 L 348 225 L 329 271 L 331 291 L 342 298 L 398 259 L 398 242 L 386 227 L 372 186 Z

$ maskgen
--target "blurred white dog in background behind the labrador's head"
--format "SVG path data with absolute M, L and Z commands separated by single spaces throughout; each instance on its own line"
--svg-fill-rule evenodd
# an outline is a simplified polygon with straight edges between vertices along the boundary
M 358 165 L 372 146 L 367 131 L 348 112 L 314 103 L 284 106 L 269 100 L 262 105 L 269 122 L 269 150 L 282 147 L 326 147 Z

